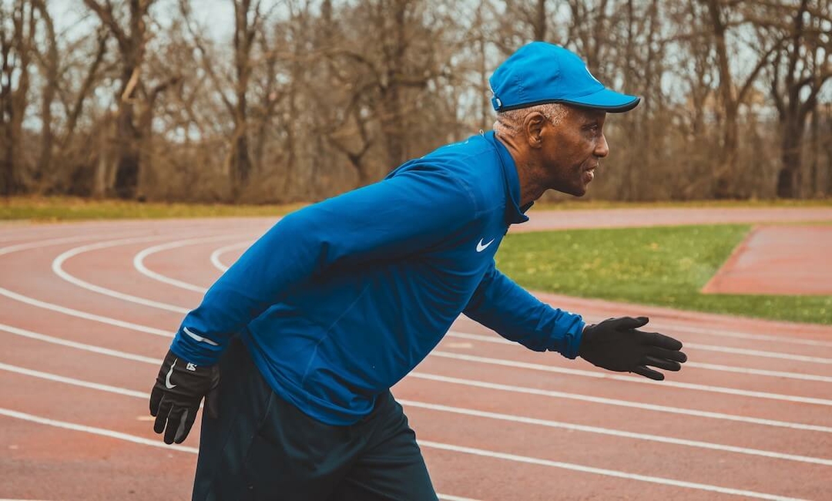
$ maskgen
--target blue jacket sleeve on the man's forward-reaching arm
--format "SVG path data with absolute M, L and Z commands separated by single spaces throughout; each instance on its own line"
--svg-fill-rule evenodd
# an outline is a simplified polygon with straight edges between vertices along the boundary
M 558 351 L 569 359 L 577 357 L 585 325 L 581 315 L 537 300 L 494 263 L 463 313 L 530 350 Z

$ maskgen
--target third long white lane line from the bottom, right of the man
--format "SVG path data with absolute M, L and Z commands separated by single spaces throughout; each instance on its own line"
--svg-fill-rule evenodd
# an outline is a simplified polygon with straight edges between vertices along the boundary
M 805 431 L 832 433 L 832 427 L 822 426 L 819 424 L 792 423 L 790 421 L 751 418 L 748 416 L 740 416 L 736 414 L 724 414 L 721 412 L 711 412 L 707 410 L 685 409 L 682 407 L 671 407 L 668 405 L 642 404 L 641 402 L 631 402 L 630 400 L 608 399 L 606 397 L 593 397 L 585 394 L 567 393 L 565 391 L 556 391 L 553 389 L 527 388 L 525 386 L 514 386 L 512 384 L 488 383 L 486 381 L 480 381 L 477 379 L 454 378 L 444 375 L 428 374 L 425 372 L 415 370 L 411 372 L 409 375 L 407 375 L 407 377 L 416 379 L 428 379 L 431 381 L 439 381 L 441 383 L 462 384 L 464 386 L 473 386 L 474 388 L 499 389 L 502 391 L 508 391 L 512 393 L 533 394 L 551 397 L 554 399 L 571 399 L 579 400 L 582 402 L 591 402 L 592 404 L 615 405 L 618 407 L 628 407 L 631 409 L 651 410 L 655 412 L 665 412 L 669 414 L 681 414 L 687 416 L 695 416 L 698 418 L 724 419 L 726 421 L 736 421 L 747 424 L 762 424 L 764 426 L 774 426 L 777 428 L 802 429 Z

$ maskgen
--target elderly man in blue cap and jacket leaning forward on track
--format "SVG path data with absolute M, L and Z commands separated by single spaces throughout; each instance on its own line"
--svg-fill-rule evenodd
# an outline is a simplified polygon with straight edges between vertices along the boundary
M 544 191 L 587 191 L 609 152 L 606 113 L 638 98 L 543 42 L 491 85 L 493 132 L 286 216 L 186 315 L 151 414 L 166 443 L 181 443 L 207 395 L 193 499 L 437 499 L 389 388 L 460 313 L 608 370 L 680 369 L 681 343 L 638 330 L 646 318 L 585 325 L 494 266 Z

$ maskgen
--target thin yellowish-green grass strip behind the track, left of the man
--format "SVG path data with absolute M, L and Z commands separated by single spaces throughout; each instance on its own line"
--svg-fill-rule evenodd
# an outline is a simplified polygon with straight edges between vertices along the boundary
M 67 196 L 18 196 L 0 199 L 0 221 L 81 221 L 97 219 L 163 219 L 181 217 L 281 216 L 301 204 L 245 206 L 120 200 L 89 200 Z

